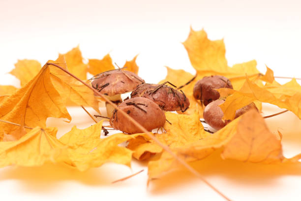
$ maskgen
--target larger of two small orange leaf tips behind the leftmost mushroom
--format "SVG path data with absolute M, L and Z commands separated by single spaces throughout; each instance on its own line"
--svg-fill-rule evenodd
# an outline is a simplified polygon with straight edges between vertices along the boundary
M 107 70 L 115 69 L 109 54 L 104 56 L 101 60 L 89 59 L 88 65 L 89 65 L 88 72 L 90 72 L 92 75 L 96 75 Z

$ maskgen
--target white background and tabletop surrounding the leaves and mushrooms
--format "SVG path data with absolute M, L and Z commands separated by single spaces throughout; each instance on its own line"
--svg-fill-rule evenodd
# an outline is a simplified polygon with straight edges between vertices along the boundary
M 275 75 L 301 77 L 301 3 L 299 0 L 41 0 L 0 1 L 1 85 L 19 85 L 7 74 L 17 59 L 44 64 L 80 44 L 85 58 L 101 59 L 110 52 L 120 66 L 139 53 L 140 76 L 158 82 L 164 66 L 194 72 L 181 42 L 205 28 L 210 39 L 224 38 L 229 65 L 256 59 Z M 281 81 L 284 82 L 284 81 Z M 267 113 L 274 113 L 275 108 Z M 279 110 L 277 110 L 279 111 Z M 50 120 L 60 134 L 72 125 L 92 122 L 84 111 L 70 109 L 73 122 Z M 301 122 L 293 114 L 268 120 L 273 132 L 281 127 L 285 156 L 301 152 Z M 80 125 L 79 125 L 80 124 Z M 260 166 L 204 160 L 200 171 L 234 200 L 300 200 L 301 168 Z M 111 181 L 144 172 L 116 184 Z M 106 164 L 87 172 L 65 167 L 6 167 L 0 169 L 1 200 L 223 200 L 185 171 L 147 182 L 146 164 L 128 167 Z

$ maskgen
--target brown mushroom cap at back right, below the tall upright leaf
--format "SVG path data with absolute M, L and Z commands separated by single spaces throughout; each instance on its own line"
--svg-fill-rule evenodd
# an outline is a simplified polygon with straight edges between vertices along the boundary
M 218 91 L 214 89 L 230 88 L 233 86 L 230 80 L 224 76 L 212 75 L 209 77 L 203 77 L 193 87 L 193 96 L 197 100 L 201 100 L 206 106 L 213 100 L 219 99 Z

